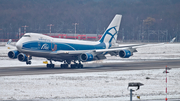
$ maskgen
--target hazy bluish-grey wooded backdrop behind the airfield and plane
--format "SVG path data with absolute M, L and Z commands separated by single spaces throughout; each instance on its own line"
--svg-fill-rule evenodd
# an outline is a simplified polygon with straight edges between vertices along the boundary
M 115 14 L 122 14 L 120 40 L 179 40 L 179 0 L 1 0 L 1 38 L 26 32 L 103 34 Z

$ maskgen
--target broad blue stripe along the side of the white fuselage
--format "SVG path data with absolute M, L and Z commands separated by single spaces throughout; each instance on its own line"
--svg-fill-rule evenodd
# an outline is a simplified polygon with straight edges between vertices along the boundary
M 56 47 L 56 48 L 55 48 Z M 58 50 L 94 50 L 94 49 L 105 49 L 105 43 L 99 43 L 97 45 L 83 45 L 83 44 L 72 44 L 72 43 L 51 43 L 43 41 L 30 41 L 23 43 L 22 49 L 26 50 L 43 50 L 43 51 L 58 51 Z

